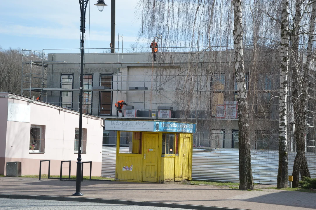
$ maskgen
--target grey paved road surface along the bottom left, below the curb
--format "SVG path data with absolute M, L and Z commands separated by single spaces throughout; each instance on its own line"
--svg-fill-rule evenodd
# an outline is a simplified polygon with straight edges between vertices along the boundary
M 111 210 L 185 210 L 183 208 L 166 208 L 166 207 L 150 207 L 150 206 L 132 206 L 132 205 L 119 205 L 119 204 L 106 204 L 106 203 L 87 203 L 75 201 L 45 201 L 45 200 L 27 200 L 27 199 L 9 199 L 0 198 L 0 210 L 9 209 L 31 209 L 31 210 L 98 210 L 98 209 L 111 209 Z

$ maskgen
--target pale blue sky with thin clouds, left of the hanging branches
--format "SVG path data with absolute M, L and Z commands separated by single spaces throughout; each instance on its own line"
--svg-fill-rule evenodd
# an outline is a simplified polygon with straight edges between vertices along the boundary
M 99 12 L 90 0 L 86 13 L 86 46 L 109 48 L 111 40 L 111 1 Z M 141 19 L 135 12 L 138 0 L 116 0 L 115 47 L 118 33 L 124 35 L 124 47 L 137 40 Z M 15 0 L 1 1 L 0 6 L 0 47 L 28 50 L 80 48 L 80 7 L 78 0 Z M 120 47 L 122 46 L 120 38 Z M 44 50 L 45 53 L 77 52 L 69 50 Z M 100 52 L 90 50 L 89 52 Z M 86 51 L 87 53 L 87 51 Z

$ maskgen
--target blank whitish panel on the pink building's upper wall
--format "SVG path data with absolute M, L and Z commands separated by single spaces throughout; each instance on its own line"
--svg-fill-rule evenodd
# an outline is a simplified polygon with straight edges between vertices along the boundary
M 8 121 L 29 123 L 31 105 L 8 102 Z

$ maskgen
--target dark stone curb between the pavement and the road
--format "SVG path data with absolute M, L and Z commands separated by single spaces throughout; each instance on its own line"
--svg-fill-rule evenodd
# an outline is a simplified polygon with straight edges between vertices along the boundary
M 66 196 L 46 196 L 46 195 L 0 194 L 0 198 L 35 199 L 35 200 L 50 200 L 50 201 L 78 201 L 78 202 L 110 203 L 110 204 L 135 205 L 135 206 L 185 208 L 185 209 L 198 209 L 198 210 L 243 210 L 240 208 L 199 206 L 199 205 L 176 204 L 176 203 L 160 203 L 160 202 L 149 202 L 149 201 L 125 201 L 125 200 L 113 200 L 113 199 L 66 197 Z

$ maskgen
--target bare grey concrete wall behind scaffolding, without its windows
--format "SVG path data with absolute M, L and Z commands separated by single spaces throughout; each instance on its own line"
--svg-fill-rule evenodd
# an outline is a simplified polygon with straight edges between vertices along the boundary
M 262 51 L 258 53 L 260 53 L 259 56 L 254 59 L 252 51 L 245 51 L 245 71 L 250 74 L 250 85 L 252 84 L 252 87 L 256 89 L 248 91 L 251 123 L 253 123 L 251 130 L 252 148 L 255 147 L 256 131 L 274 130 L 277 122 L 273 120 L 278 119 L 277 97 L 271 100 L 271 111 L 267 116 L 268 118 L 259 119 L 255 116 L 257 111 L 256 91 L 259 88 L 256 85 L 258 74 L 278 74 L 276 67 L 279 66 L 278 61 L 275 61 L 276 52 Z M 66 61 L 71 64 L 49 65 L 47 87 L 60 88 L 60 76 L 73 74 L 73 89 L 79 89 L 79 54 L 49 54 L 49 60 Z M 213 91 L 211 77 L 214 74 L 223 73 L 225 74 L 224 101 L 234 100 L 234 51 L 212 51 L 200 54 L 197 52 L 166 52 L 159 53 L 157 61 L 157 63 L 152 63 L 151 53 L 124 53 L 119 56 L 111 53 L 91 53 L 85 55 L 84 73 L 93 74 L 94 87 L 100 86 L 100 74 L 113 75 L 113 90 L 117 88 L 122 90 L 113 91 L 113 115 L 115 115 L 114 103 L 117 100 L 125 100 L 129 105 L 140 109 L 141 117 L 145 116 L 144 111 L 148 114 L 146 117 L 149 117 L 149 110 L 155 110 L 158 106 L 173 106 L 174 117 L 182 118 L 182 121 L 197 122 L 200 126 L 198 132 L 203 131 L 203 133 L 210 135 L 211 130 L 223 129 L 225 131 L 225 148 L 231 148 L 231 132 L 233 129 L 238 130 L 237 120 L 211 118 L 210 99 Z M 118 71 L 119 73 L 117 73 Z M 278 77 L 272 77 L 271 83 L 273 89 L 278 87 Z M 126 91 L 131 86 L 148 87 L 149 90 L 153 91 Z M 197 89 L 200 92 L 196 92 Z M 189 90 L 195 90 L 195 92 Z M 98 91 L 93 91 L 93 115 L 99 113 L 99 94 Z M 277 96 L 277 93 L 272 93 L 272 95 Z M 60 91 L 48 93 L 48 102 L 59 105 L 59 100 Z M 74 110 L 78 110 L 78 101 L 78 91 L 74 91 Z M 196 111 L 198 111 L 199 118 L 209 118 L 209 120 L 195 120 Z M 195 134 L 195 140 L 201 139 L 197 138 L 197 135 L 199 134 Z

